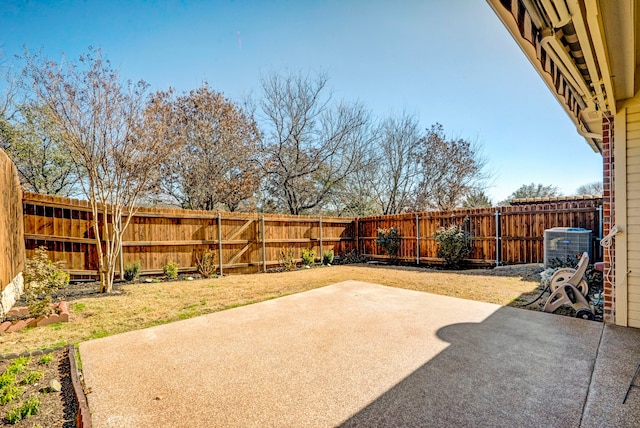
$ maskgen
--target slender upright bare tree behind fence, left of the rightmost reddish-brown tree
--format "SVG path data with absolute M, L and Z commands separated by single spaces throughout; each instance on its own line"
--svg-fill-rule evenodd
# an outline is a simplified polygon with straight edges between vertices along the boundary
M 376 175 L 369 183 L 382 214 L 410 209 L 417 191 L 422 136 L 416 116 L 403 112 L 383 121 Z

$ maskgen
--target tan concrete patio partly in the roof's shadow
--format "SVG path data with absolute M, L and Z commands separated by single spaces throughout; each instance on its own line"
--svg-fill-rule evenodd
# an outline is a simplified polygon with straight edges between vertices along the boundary
M 639 330 L 355 281 L 80 354 L 95 427 L 640 425 Z

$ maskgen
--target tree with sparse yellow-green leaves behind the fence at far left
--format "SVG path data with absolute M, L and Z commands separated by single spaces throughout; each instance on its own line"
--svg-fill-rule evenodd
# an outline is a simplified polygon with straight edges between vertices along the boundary
M 77 190 L 76 167 L 51 112 L 37 104 L 24 104 L 6 124 L 10 128 L 4 128 L 0 147 L 16 165 L 22 186 L 36 193 L 73 195 Z

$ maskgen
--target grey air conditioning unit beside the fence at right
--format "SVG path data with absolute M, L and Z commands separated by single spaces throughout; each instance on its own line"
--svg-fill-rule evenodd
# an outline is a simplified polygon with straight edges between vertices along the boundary
M 581 227 L 554 227 L 544 231 L 544 267 L 554 258 L 566 260 L 585 251 L 593 260 L 591 231 Z

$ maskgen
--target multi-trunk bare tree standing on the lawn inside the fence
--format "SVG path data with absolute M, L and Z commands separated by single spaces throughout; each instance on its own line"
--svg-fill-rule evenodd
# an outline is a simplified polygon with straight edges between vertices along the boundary
M 147 84 L 123 82 L 100 50 L 77 62 L 57 63 L 25 53 L 23 81 L 72 156 L 93 214 L 100 291 L 111 292 L 122 235 L 138 198 L 157 183 L 158 168 L 174 147 L 156 138 L 163 129 L 143 112 Z M 147 123 L 145 123 L 145 116 Z M 102 220 L 103 227 L 99 225 Z

